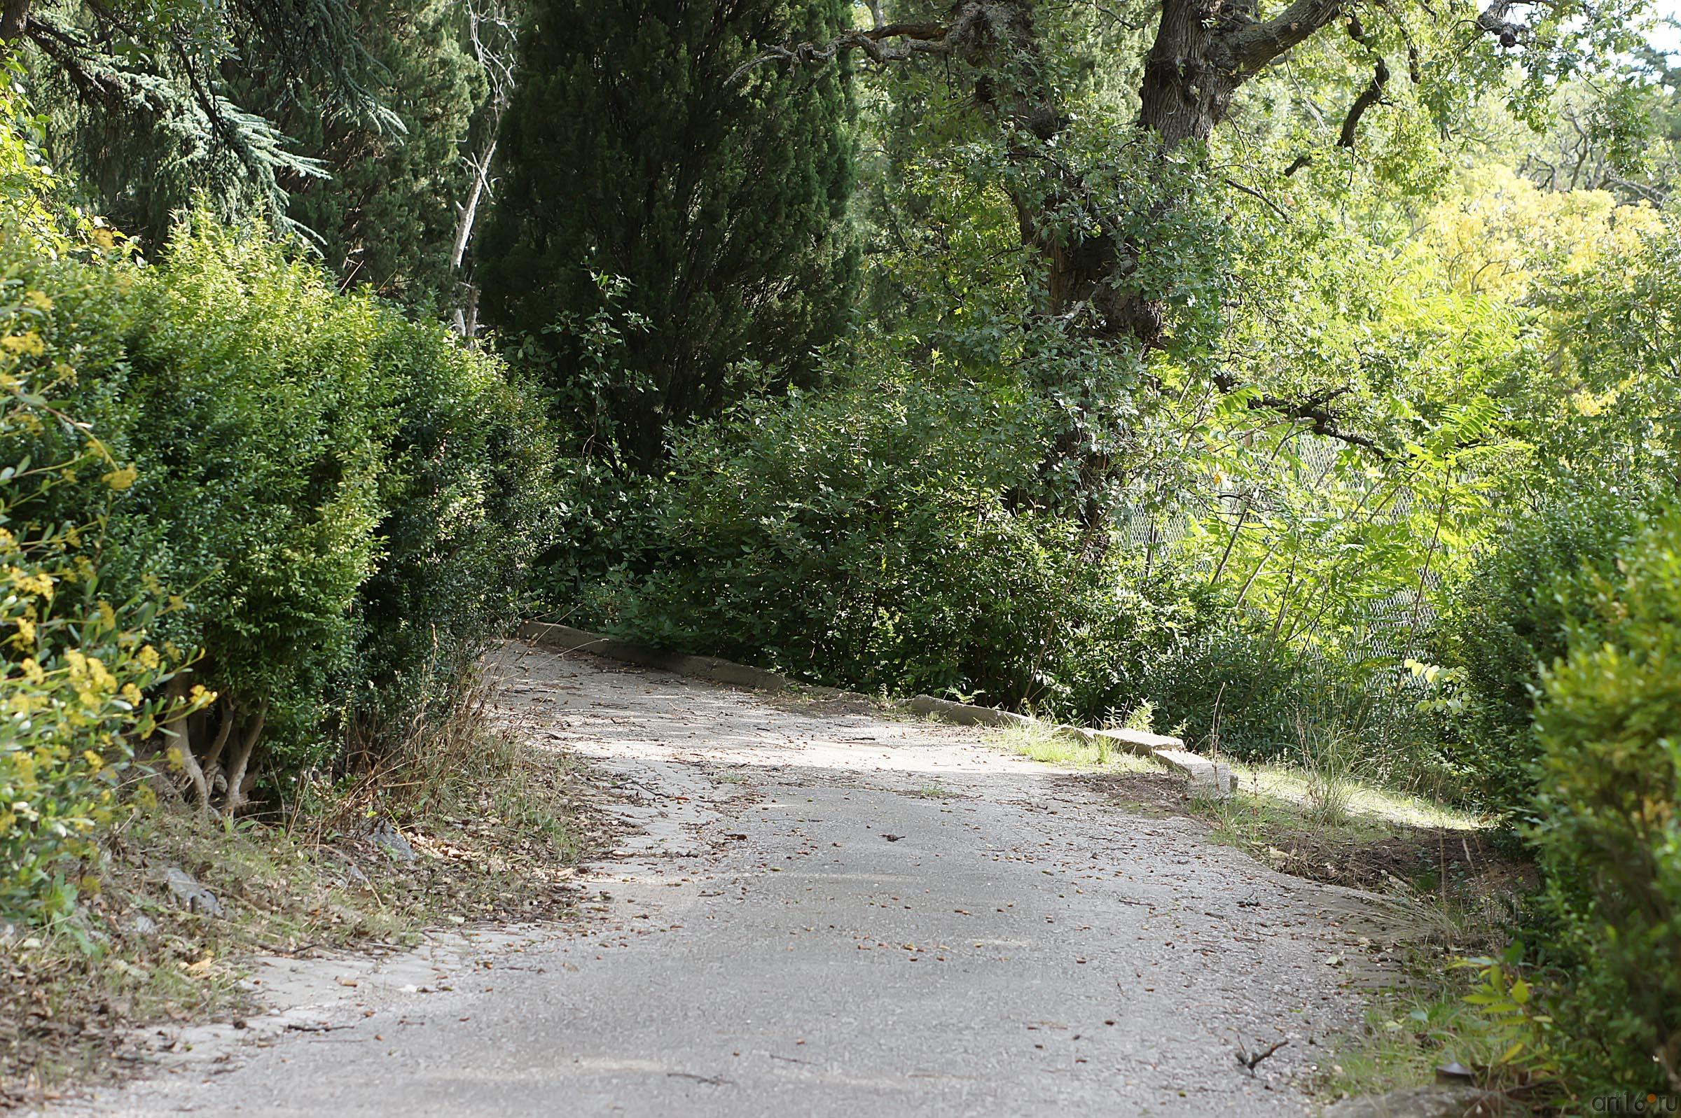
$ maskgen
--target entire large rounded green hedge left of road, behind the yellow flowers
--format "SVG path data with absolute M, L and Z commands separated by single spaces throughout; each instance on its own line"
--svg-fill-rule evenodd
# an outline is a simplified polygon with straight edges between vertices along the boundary
M 225 725 L 261 728 L 296 772 L 345 730 L 361 748 L 403 733 L 513 615 L 546 519 L 541 415 L 440 326 L 261 237 L 183 232 L 140 298 L 140 479 L 113 535 L 192 587 L 178 642 L 222 691 L 192 736 L 215 751 Z

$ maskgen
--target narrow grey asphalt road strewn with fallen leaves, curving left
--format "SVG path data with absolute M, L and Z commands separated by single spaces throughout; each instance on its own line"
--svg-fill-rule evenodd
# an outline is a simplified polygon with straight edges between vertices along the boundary
M 523 644 L 491 671 L 533 748 L 634 794 L 588 918 L 380 963 L 77 1113 L 1303 1115 L 1358 1017 L 1358 898 L 975 731 Z

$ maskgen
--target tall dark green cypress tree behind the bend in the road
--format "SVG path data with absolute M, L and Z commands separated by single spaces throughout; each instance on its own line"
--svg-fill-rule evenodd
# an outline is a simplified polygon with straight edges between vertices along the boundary
M 666 427 L 767 370 L 812 372 L 846 323 L 852 98 L 840 67 L 731 81 L 765 44 L 825 39 L 842 0 L 535 0 L 476 276 L 484 318 L 546 356 L 587 432 L 647 467 Z M 566 330 L 629 281 L 619 370 Z M 598 331 L 595 331 L 598 338 Z M 765 383 L 758 380 L 756 383 Z M 605 435 L 605 439 L 603 439 Z

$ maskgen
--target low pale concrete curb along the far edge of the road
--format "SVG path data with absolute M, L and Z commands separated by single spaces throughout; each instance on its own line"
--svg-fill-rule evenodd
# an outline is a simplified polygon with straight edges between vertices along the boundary
M 592 656 L 605 656 L 607 659 L 635 664 L 639 667 L 669 671 L 679 676 L 694 676 L 698 679 L 725 683 L 735 688 L 753 688 L 756 691 L 798 691 L 802 694 L 814 694 L 825 699 L 869 698 L 852 691 L 840 691 L 837 688 L 800 683 L 798 679 L 790 679 L 782 672 L 765 671 L 763 667 L 748 667 L 746 664 L 735 664 L 716 656 L 684 656 L 681 652 L 664 652 L 637 641 L 603 637 L 602 634 L 573 629 L 572 625 L 555 625 L 550 622 L 531 620 L 519 625 L 516 635 L 521 641 L 560 649 L 561 652 L 588 652 Z M 968 703 L 936 699 L 931 694 L 918 694 L 909 701 L 909 708 L 916 715 L 928 715 L 963 726 L 1032 726 L 1037 723 L 1034 718 L 1015 715 L 1012 711 L 1000 711 L 995 706 L 970 706 Z M 1185 777 L 1192 795 L 1225 799 L 1237 787 L 1229 765 L 1210 762 L 1205 757 L 1187 751 L 1185 743 L 1178 738 L 1168 738 L 1160 733 L 1145 733 L 1141 730 L 1088 730 L 1084 726 L 1052 726 L 1052 733 L 1078 738 L 1081 741 L 1098 745 L 1099 748 L 1120 748 L 1126 753 L 1148 757 L 1168 772 Z

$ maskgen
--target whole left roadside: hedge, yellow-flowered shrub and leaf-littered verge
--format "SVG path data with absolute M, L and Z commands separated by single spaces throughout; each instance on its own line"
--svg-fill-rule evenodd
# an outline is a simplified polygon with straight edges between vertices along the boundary
M 587 839 L 472 667 L 553 519 L 531 392 L 261 224 L 143 256 L 0 114 L 5 1103 L 252 953 L 558 915 Z

